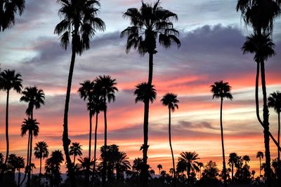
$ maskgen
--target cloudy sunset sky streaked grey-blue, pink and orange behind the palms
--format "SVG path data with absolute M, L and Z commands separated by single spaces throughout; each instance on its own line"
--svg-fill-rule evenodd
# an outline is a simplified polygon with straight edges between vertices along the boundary
M 252 55 L 242 54 L 242 44 L 251 28 L 244 26 L 240 13 L 235 11 L 236 3 L 236 0 L 161 1 L 163 8 L 178 14 L 174 27 L 180 32 L 181 48 L 157 46 L 153 72 L 157 99 L 150 105 L 148 142 L 148 162 L 152 169 L 157 170 L 158 164 L 167 171 L 172 167 L 168 109 L 160 102 L 166 92 L 174 92 L 180 101 L 179 109 L 171 115 L 175 159 L 183 151 L 196 151 L 200 162 L 214 160 L 221 168 L 220 101 L 212 99 L 209 86 L 223 80 L 232 86 L 234 97 L 233 101 L 223 103 L 226 159 L 232 152 L 249 155 L 251 169 L 259 171 L 256 152 L 264 151 L 264 144 L 263 129 L 255 116 L 256 62 Z M 89 113 L 77 93 L 79 83 L 99 75 L 110 75 L 117 79 L 119 92 L 116 101 L 108 105 L 107 142 L 119 145 L 120 151 L 126 151 L 132 161 L 142 156 L 139 148 L 143 144 L 143 104 L 135 104 L 133 91 L 135 85 L 147 81 L 148 55 L 141 57 L 134 50 L 126 54 L 126 39 L 120 39 L 120 32 L 129 26 L 129 20 L 122 18 L 122 13 L 127 8 L 140 8 L 141 1 L 107 0 L 100 4 L 99 17 L 105 22 L 106 31 L 97 32 L 91 49 L 77 56 L 75 62 L 69 111 L 70 139 L 83 145 L 86 156 Z M 50 152 L 63 151 L 63 109 L 71 57 L 71 51 L 60 48 L 58 36 L 53 34 L 55 25 L 60 22 L 58 8 L 55 0 L 27 0 L 25 12 L 16 17 L 15 26 L 0 33 L 1 68 L 15 69 L 22 74 L 24 87 L 37 85 L 44 90 L 46 104 L 34 111 L 34 118 L 40 123 L 39 136 L 34 143 L 46 141 Z M 268 93 L 281 90 L 280 26 L 278 18 L 273 32 L 276 55 L 266 62 Z M 26 157 L 27 137 L 20 137 L 20 125 L 23 118 L 27 118 L 27 104 L 19 99 L 20 95 L 11 92 L 10 153 Z M 1 153 L 6 151 L 5 109 L 6 92 L 1 91 Z M 98 119 L 98 148 L 103 145 L 102 116 Z M 277 137 L 277 115 L 272 109 L 270 131 Z M 277 148 L 273 144 L 270 148 L 272 158 L 276 158 Z M 39 160 L 34 157 L 32 160 L 39 168 Z M 65 171 L 65 167 L 62 169 Z M 39 172 L 37 170 L 35 172 Z

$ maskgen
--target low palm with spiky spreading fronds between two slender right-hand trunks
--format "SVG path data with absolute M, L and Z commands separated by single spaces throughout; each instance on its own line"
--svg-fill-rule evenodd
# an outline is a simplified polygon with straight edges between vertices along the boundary
M 188 178 L 190 177 L 190 172 L 199 172 L 198 162 L 196 160 L 200 159 L 196 152 L 181 152 L 181 159 L 185 162 L 185 167 L 188 171 Z

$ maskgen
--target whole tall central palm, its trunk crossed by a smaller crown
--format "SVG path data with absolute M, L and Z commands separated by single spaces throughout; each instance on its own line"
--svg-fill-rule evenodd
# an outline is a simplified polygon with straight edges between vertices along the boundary
M 131 48 L 137 49 L 138 53 L 143 56 L 146 53 L 149 55 L 149 71 L 148 71 L 148 85 L 152 85 L 153 74 L 153 56 L 157 53 L 157 38 L 159 44 L 164 48 L 169 48 L 172 44 L 176 44 L 178 48 L 181 46 L 181 42 L 177 38 L 178 31 L 174 29 L 172 20 L 178 20 L 178 15 L 169 10 L 166 10 L 159 6 L 159 0 L 152 6 L 145 4 L 142 1 L 142 6 L 138 8 L 129 8 L 126 13 L 123 14 L 124 18 L 129 18 L 131 26 L 124 29 L 121 32 L 121 37 L 127 36 L 126 53 L 129 53 Z M 148 127 L 148 113 L 149 113 L 149 100 L 145 101 L 144 109 L 144 144 L 143 144 L 143 162 L 147 165 L 147 153 L 148 153 L 148 131 L 145 130 Z M 143 185 L 148 184 L 148 167 L 142 169 Z

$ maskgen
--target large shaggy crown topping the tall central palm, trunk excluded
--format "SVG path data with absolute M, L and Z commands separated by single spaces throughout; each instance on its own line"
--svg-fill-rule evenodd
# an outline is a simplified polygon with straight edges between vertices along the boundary
M 178 31 L 171 22 L 178 20 L 178 15 L 159 6 L 159 0 L 153 6 L 142 1 L 140 10 L 129 8 L 123 17 L 131 21 L 131 27 L 121 33 L 121 37 L 128 36 L 126 53 L 129 53 L 131 48 L 137 49 L 141 55 L 157 53 L 157 37 L 164 48 L 169 48 L 173 43 L 176 43 L 178 48 L 181 46 L 177 38 Z

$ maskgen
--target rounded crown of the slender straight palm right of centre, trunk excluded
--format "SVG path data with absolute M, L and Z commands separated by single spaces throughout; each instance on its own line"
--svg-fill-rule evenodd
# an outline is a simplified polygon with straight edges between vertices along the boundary
M 217 81 L 214 85 L 211 85 L 211 92 L 213 93 L 214 98 L 227 98 L 232 100 L 233 95 L 230 93 L 231 86 L 228 85 L 228 82 Z

